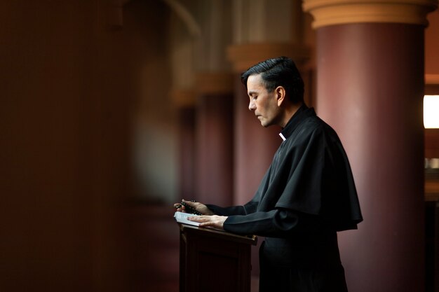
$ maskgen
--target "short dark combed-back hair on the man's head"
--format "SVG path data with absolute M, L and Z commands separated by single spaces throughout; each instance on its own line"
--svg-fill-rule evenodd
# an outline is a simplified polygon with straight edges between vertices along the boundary
M 294 103 L 304 100 L 304 81 L 299 70 L 288 57 L 276 57 L 255 64 L 241 74 L 241 81 L 247 87 L 248 77 L 261 74 L 265 88 L 268 92 L 278 86 L 285 88 L 287 96 Z

